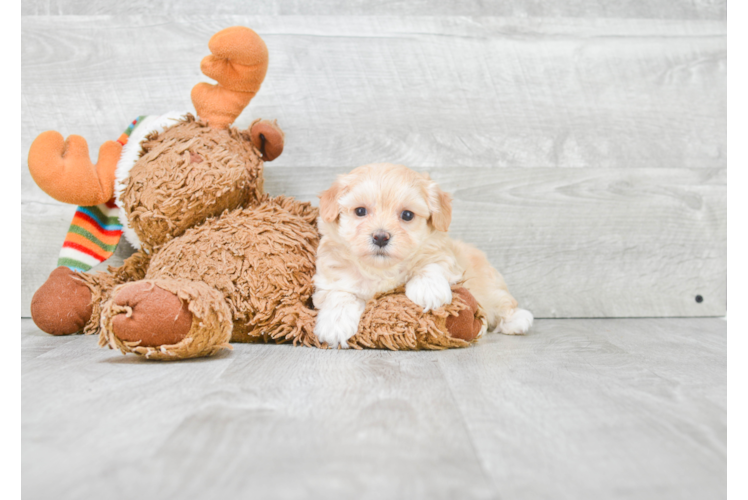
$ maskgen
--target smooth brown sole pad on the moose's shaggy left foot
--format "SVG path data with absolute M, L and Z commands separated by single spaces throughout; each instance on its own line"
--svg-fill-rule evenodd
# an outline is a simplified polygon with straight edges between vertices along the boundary
M 124 342 L 140 347 L 178 344 L 192 328 L 192 313 L 179 297 L 152 283 L 133 283 L 114 297 L 121 313 L 112 319 L 112 330 Z

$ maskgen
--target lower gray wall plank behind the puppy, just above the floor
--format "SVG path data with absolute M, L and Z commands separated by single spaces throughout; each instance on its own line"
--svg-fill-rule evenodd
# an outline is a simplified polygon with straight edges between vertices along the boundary
M 316 201 L 345 171 L 269 165 L 266 189 Z M 723 170 L 430 172 L 455 195 L 452 236 L 483 249 L 538 317 L 725 312 Z M 56 262 L 67 212 L 22 205 L 22 316 Z

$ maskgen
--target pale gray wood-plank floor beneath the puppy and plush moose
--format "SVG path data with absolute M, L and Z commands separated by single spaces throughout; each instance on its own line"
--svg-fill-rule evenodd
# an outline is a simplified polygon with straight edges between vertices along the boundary
M 734 335 L 541 320 L 441 353 L 241 345 L 163 364 L 22 319 L 21 496 L 723 499 Z

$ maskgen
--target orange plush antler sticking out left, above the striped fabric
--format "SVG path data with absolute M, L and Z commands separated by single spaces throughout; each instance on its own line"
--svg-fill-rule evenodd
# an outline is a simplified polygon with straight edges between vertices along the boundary
M 29 150 L 34 182 L 57 201 L 84 207 L 100 205 L 114 196 L 114 175 L 122 145 L 108 141 L 99 149 L 96 166 L 83 137 L 66 141 L 58 132 L 44 132 Z

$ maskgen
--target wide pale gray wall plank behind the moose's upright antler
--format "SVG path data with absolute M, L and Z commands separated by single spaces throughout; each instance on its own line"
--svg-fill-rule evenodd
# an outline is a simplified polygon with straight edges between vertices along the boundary
M 40 126 L 98 143 L 138 114 L 191 109 L 207 40 L 239 23 L 272 61 L 237 123 L 277 118 L 281 165 L 724 166 L 711 23 L 25 18 L 22 94 Z

